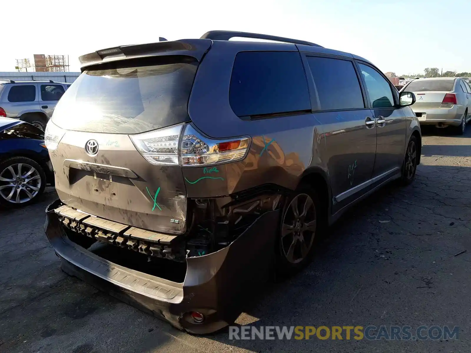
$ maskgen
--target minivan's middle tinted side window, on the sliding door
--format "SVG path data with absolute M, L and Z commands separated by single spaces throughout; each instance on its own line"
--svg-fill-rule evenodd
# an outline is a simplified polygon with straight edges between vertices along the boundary
M 308 63 L 316 83 L 320 110 L 365 108 L 351 61 L 308 56 Z

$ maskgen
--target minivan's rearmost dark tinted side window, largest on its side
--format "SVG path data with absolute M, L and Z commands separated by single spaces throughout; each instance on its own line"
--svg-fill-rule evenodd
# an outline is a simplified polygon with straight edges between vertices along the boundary
M 229 103 L 238 116 L 310 111 L 308 82 L 297 52 L 240 52 Z

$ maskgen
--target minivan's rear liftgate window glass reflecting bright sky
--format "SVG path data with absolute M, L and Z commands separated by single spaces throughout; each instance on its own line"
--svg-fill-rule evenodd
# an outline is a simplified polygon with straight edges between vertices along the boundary
M 102 64 L 65 91 L 52 120 L 60 128 L 137 134 L 189 121 L 198 62 L 162 56 Z

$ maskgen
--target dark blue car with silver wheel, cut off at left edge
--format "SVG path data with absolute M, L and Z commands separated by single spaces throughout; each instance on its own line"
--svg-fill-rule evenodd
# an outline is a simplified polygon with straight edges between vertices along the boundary
M 0 206 L 29 205 L 53 180 L 44 132 L 21 120 L 0 118 Z

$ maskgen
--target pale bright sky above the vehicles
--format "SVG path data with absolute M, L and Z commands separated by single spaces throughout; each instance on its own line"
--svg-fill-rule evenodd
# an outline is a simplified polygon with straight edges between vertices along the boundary
M 80 71 L 78 57 L 99 49 L 229 30 L 308 40 L 398 75 L 471 72 L 469 0 L 49 0 L 37 12 L 37 0 L 0 2 L 0 28 L 11 31 L 1 35 L 0 71 L 33 54 L 69 56 Z

